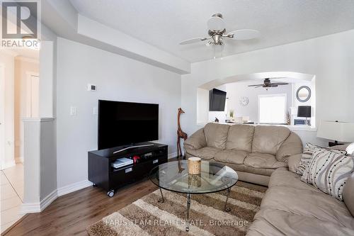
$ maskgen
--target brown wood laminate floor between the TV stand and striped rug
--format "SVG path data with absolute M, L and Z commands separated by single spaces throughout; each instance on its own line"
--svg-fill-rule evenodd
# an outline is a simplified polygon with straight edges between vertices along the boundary
M 81 189 L 57 198 L 42 213 L 25 215 L 5 235 L 87 235 L 87 226 L 156 189 L 149 179 L 118 189 L 113 198 L 98 187 Z

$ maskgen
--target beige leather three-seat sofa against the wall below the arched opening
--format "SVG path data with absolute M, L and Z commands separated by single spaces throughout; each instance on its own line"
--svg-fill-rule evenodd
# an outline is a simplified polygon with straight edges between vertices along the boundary
M 275 169 L 302 153 L 302 141 L 283 126 L 208 123 L 185 140 L 184 150 L 186 157 L 227 164 L 241 181 L 268 186 Z

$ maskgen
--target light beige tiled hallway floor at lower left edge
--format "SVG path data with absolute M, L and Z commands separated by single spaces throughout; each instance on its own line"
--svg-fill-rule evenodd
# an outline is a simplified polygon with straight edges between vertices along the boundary
M 4 232 L 23 215 L 19 214 L 23 202 L 23 164 L 0 171 L 1 232 Z

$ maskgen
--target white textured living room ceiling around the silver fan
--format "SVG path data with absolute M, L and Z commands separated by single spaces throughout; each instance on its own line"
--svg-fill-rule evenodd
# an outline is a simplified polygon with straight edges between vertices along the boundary
M 84 16 L 118 29 L 190 62 L 209 60 L 203 43 L 179 45 L 207 35 L 207 19 L 222 13 L 227 32 L 251 28 L 256 40 L 228 40 L 224 55 L 283 45 L 354 28 L 353 0 L 70 0 Z

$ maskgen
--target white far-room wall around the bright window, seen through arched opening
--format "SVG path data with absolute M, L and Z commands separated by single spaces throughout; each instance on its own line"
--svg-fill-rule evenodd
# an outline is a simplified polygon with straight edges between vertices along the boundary
M 258 95 L 261 94 L 287 94 L 287 111 L 290 111 L 292 106 L 292 86 L 291 84 L 282 85 L 274 88 L 269 88 L 268 91 L 264 88 L 249 87 L 250 84 L 258 84 L 258 82 L 236 82 L 226 84 L 227 88 L 227 106 L 229 111 L 234 110 L 234 117 L 249 116 L 250 120 L 258 122 Z M 249 104 L 241 106 L 241 97 L 248 97 Z

